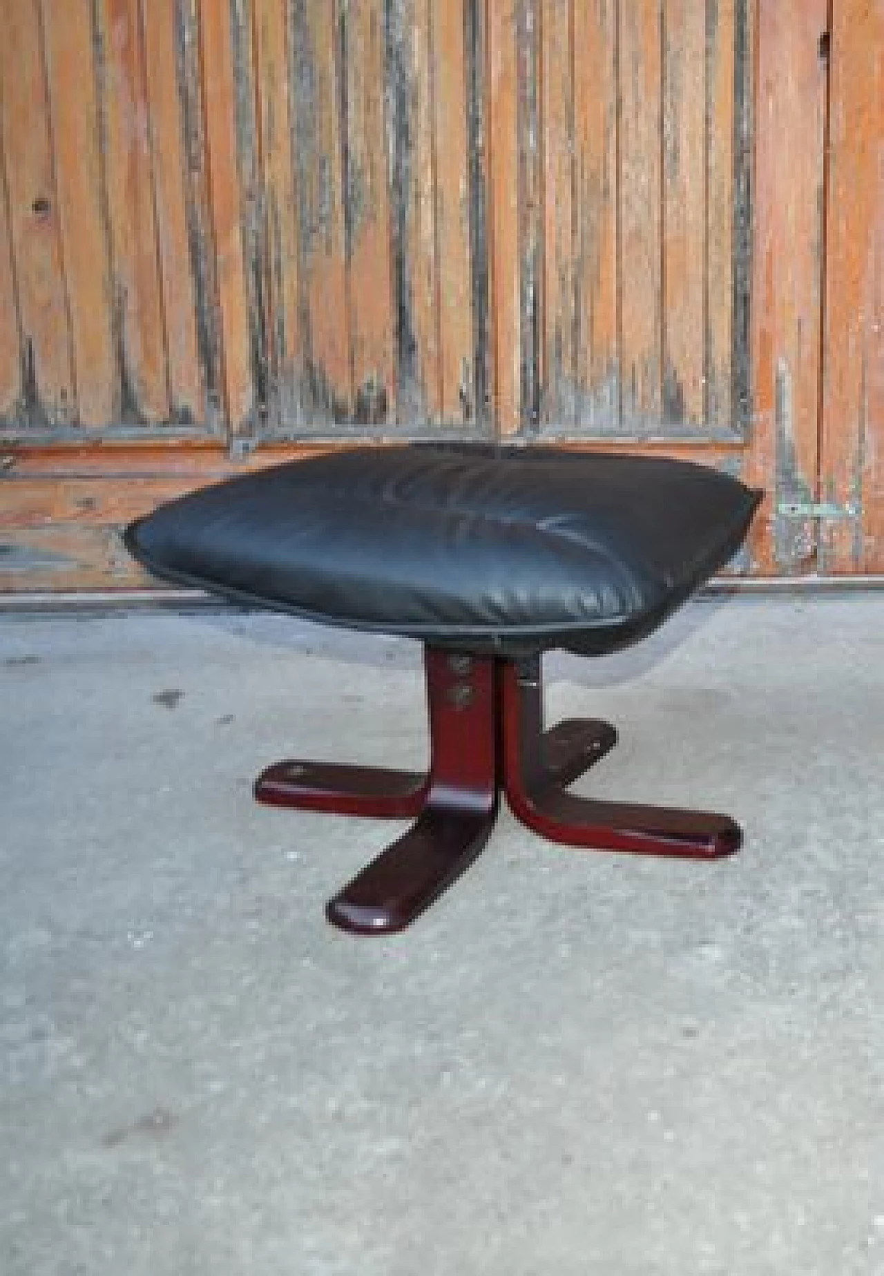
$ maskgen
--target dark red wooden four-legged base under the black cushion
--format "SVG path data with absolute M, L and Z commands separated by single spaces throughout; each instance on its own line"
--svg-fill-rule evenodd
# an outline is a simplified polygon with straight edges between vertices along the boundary
M 402 930 L 472 864 L 503 792 L 513 814 L 554 842 L 588 850 L 717 859 L 739 850 L 726 815 L 578 798 L 568 791 L 617 740 L 568 718 L 543 730 L 541 658 L 494 660 L 425 648 L 430 771 L 288 760 L 255 782 L 258 801 L 347 815 L 415 818 L 327 906 L 357 934 Z

